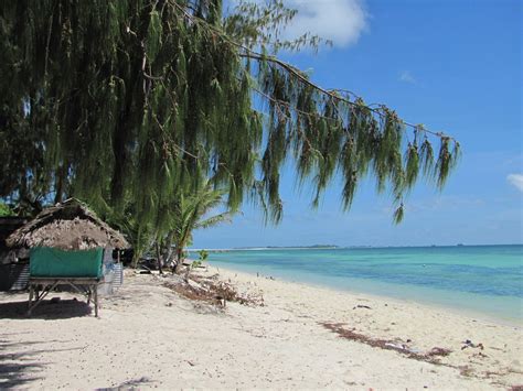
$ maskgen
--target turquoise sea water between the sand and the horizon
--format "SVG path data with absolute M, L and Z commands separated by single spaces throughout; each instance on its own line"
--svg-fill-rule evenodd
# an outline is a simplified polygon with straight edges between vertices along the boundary
M 523 246 L 234 250 L 211 264 L 523 321 Z

